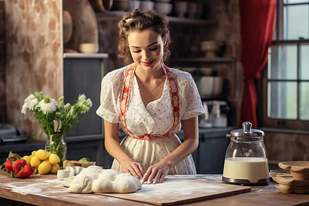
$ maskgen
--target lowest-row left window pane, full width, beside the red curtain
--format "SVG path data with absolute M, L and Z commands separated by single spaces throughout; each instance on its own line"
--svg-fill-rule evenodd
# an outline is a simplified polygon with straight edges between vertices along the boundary
M 297 83 L 268 82 L 267 116 L 297 119 Z

